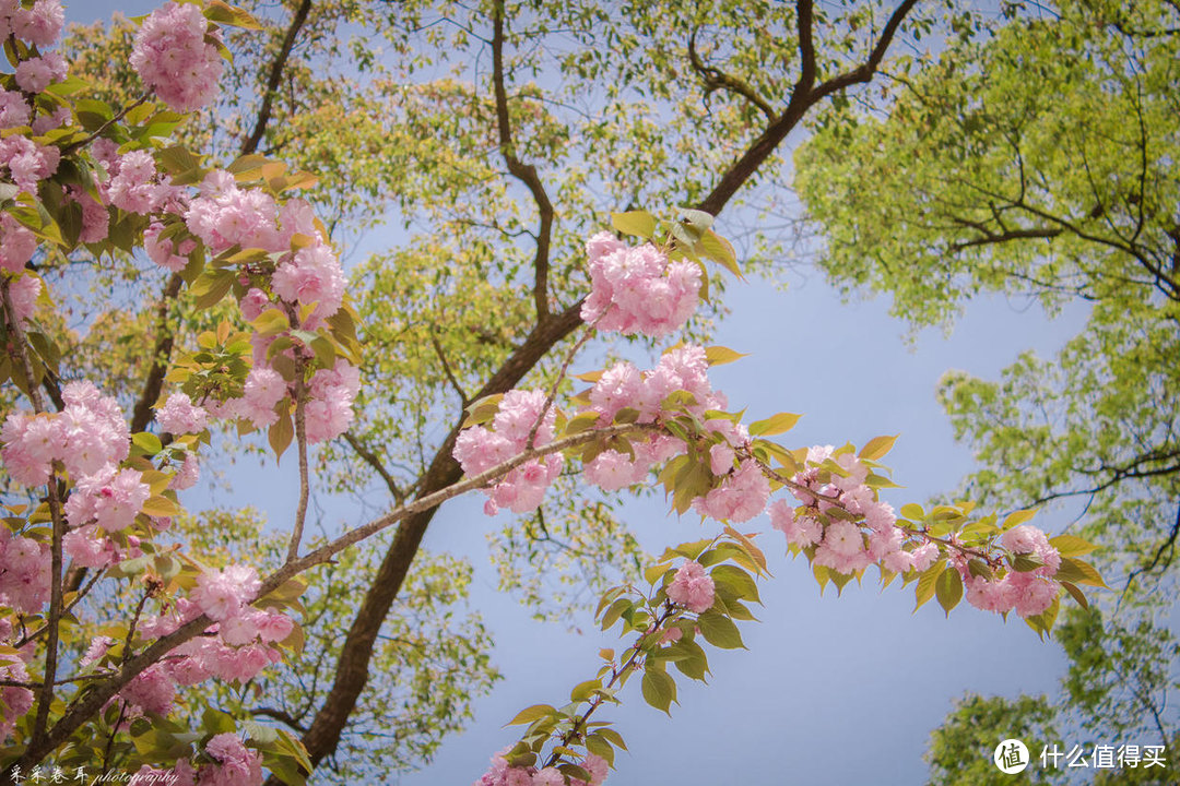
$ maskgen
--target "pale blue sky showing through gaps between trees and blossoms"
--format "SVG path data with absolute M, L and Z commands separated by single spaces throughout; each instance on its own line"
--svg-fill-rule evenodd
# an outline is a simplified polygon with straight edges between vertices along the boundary
M 74 2 L 67 4 L 67 19 L 91 21 L 113 9 L 135 15 L 158 5 Z M 723 220 L 719 229 L 725 232 Z M 900 434 L 887 458 L 894 478 L 906 487 L 890 496 L 894 506 L 952 489 L 972 468 L 935 402 L 944 371 L 996 377 L 1024 349 L 1051 352 L 1084 319 L 1084 311 L 1067 310 L 1050 322 L 1021 302 L 981 299 L 949 337 L 925 331 L 909 346 L 904 325 L 887 316 L 886 302 L 845 305 L 818 276 L 786 278 L 786 291 L 759 280 L 730 285 L 733 316 L 721 324 L 716 342 L 752 356 L 716 369 L 714 384 L 729 395 L 733 409 L 748 407 L 752 417 L 804 412 L 788 435 L 792 444 L 861 444 L 879 434 Z M 800 328 L 789 342 L 785 321 Z M 801 349 L 831 363 L 805 365 Z M 590 359 L 581 368 L 591 368 Z M 238 477 L 243 482 L 234 494 L 206 501 L 251 503 L 271 521 L 290 520 L 293 465 Z M 270 490 L 260 496 L 253 493 L 258 488 Z M 350 519 L 355 507 L 329 504 L 324 523 L 359 523 Z M 594 633 L 589 616 L 581 626 L 584 634 L 571 633 L 533 621 L 497 590 L 485 536 L 499 522 L 485 517 L 481 504 L 477 496 L 447 503 L 426 546 L 476 563 L 472 602 L 496 635 L 493 658 L 506 679 L 476 702 L 471 728 L 450 738 L 431 766 L 404 777 L 405 786 L 471 782 L 493 752 L 513 741 L 512 729 L 502 727 L 505 721 L 532 704 L 563 704 L 573 685 L 592 676 L 598 649 L 616 646 L 612 636 Z M 697 519 L 677 520 L 654 503 L 636 503 L 624 515 L 651 550 L 702 531 Z M 1068 522 L 1063 514 L 1050 514 L 1038 523 L 1060 531 Z M 784 556 L 782 537 L 765 516 L 746 529 L 765 531 L 760 541 L 774 573 L 762 588 L 762 621 L 743 626 L 749 650 L 710 652 L 710 683 L 682 681 L 670 720 L 647 707 L 632 682 L 624 706 L 604 713 L 630 747 L 608 782 L 924 782 L 929 733 L 952 699 L 965 691 L 1009 696 L 1056 691 L 1063 672 L 1060 648 L 1041 642 L 1016 617 L 1005 625 L 964 607 L 946 620 L 933 603 L 913 614 L 912 589 L 881 593 L 867 580 L 863 587 L 848 586 L 841 597 L 831 590 L 820 596 L 806 562 Z

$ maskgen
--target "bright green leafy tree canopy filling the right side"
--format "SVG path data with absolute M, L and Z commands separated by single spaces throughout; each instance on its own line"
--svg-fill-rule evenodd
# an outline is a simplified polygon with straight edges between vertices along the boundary
M 964 490 L 1011 507 L 1079 500 L 1064 510 L 1127 592 L 1103 614 L 1068 615 L 1051 713 L 1041 699 L 970 698 L 949 716 L 931 748 L 939 784 L 959 782 L 946 751 L 974 739 L 965 707 L 1010 711 L 997 733 L 1055 716 L 1079 741 L 1168 744 L 1180 728 L 1166 625 L 1180 528 L 1180 6 L 1004 6 L 994 24 L 964 20 L 796 156 L 826 238 L 819 264 L 846 293 L 886 293 L 914 328 L 949 326 L 991 292 L 1089 311 L 1056 356 L 1025 352 L 998 381 L 949 371 L 939 398 L 981 464 Z

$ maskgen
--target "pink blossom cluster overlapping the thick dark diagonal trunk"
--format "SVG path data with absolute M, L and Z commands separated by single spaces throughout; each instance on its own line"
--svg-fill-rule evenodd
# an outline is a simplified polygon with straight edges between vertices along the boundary
M 529 448 L 529 434 L 538 420 L 540 424 L 535 444 L 540 447 L 552 441 L 556 412 L 550 407 L 542 418 L 544 405 L 543 390 L 510 390 L 504 394 L 491 429 L 477 425 L 464 430 L 455 440 L 454 457 L 463 465 L 463 471 L 478 475 L 524 453 Z M 484 511 L 493 516 L 500 508 L 513 513 L 536 510 L 545 489 L 560 475 L 563 463 L 560 454 L 550 454 L 517 467 L 496 486 L 484 490 L 489 496 Z

